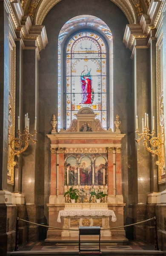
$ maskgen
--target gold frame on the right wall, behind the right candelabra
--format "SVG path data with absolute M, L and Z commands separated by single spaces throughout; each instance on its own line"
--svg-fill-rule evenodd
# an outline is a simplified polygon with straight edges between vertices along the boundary
M 161 48 L 163 47 L 163 32 L 161 32 L 160 37 L 156 43 L 156 90 L 157 90 L 157 136 L 161 139 L 164 132 L 164 120 L 160 123 L 160 96 L 162 94 L 161 90 Z M 164 145 L 163 145 L 163 159 L 165 159 Z M 158 168 L 158 183 L 165 183 L 165 178 L 161 179 L 161 169 Z

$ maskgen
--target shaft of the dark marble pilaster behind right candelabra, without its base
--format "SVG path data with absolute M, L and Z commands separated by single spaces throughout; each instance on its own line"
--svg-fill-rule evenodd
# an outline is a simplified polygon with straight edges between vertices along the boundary
M 134 66 L 135 118 L 137 115 L 138 130 L 141 132 L 142 118 L 145 112 L 150 113 L 149 49 L 136 49 Z M 142 140 L 135 146 L 135 203 L 146 204 L 147 195 L 150 193 L 150 153 L 144 148 Z

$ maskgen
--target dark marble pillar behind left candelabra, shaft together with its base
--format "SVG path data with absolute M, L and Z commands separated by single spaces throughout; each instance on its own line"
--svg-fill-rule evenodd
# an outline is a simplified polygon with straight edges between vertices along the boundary
M 29 114 L 29 132 L 34 132 L 34 117 L 38 116 L 38 57 L 35 47 L 23 50 L 23 115 Z M 24 127 L 24 118 L 22 120 Z M 38 123 L 37 123 L 38 131 Z M 36 135 L 36 139 L 37 139 Z M 38 142 L 29 141 L 27 150 L 23 153 L 22 192 L 25 195 L 27 218 L 29 221 L 39 221 L 39 191 L 40 174 L 38 169 Z M 38 240 L 38 227 L 29 225 L 29 241 Z

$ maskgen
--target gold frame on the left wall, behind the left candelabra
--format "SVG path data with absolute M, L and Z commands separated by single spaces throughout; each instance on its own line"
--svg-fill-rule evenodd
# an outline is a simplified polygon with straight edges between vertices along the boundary
M 9 87 L 9 103 L 11 104 L 11 122 L 9 121 L 8 135 L 8 177 L 7 183 L 14 185 L 14 166 L 10 164 L 11 146 L 10 141 L 15 136 L 15 86 L 16 86 L 16 45 L 14 39 L 9 32 L 9 47 L 10 47 L 10 87 Z M 14 161 L 14 156 L 13 159 Z M 10 177 L 10 179 L 9 179 Z

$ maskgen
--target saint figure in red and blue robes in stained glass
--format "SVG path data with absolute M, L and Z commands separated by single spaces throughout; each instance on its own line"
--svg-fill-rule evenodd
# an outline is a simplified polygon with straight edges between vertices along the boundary
M 82 102 L 80 104 L 92 104 L 92 77 L 91 77 L 91 70 L 88 70 L 88 67 L 85 65 L 84 70 L 81 73 L 81 97 Z

